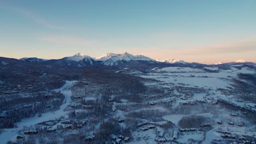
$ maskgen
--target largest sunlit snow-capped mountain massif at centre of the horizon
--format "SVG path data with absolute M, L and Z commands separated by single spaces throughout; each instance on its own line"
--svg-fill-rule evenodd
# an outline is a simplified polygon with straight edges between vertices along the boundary
M 104 65 L 118 65 L 121 62 L 127 61 L 148 61 L 154 62 L 155 60 L 142 55 L 132 55 L 130 53 L 115 54 L 107 53 L 101 57 L 97 57 L 96 61 L 100 61 Z

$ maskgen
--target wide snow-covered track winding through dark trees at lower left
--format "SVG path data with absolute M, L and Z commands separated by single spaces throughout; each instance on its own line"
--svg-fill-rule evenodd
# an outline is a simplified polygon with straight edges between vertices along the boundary
M 21 122 L 16 123 L 17 128 L 10 128 L 10 129 L 4 129 L 4 132 L 0 134 L 0 143 L 7 143 L 8 141 L 15 141 L 17 132 L 21 130 L 25 125 L 35 125 L 40 122 L 53 120 L 55 118 L 60 118 L 61 116 L 67 117 L 67 113 L 64 111 L 64 109 L 70 104 L 71 101 L 71 90 L 70 87 L 72 83 L 75 81 L 66 81 L 66 84 L 63 85 L 59 89 L 55 89 L 55 91 L 61 91 L 65 95 L 65 99 L 63 100 L 63 104 L 60 106 L 60 110 L 57 110 L 55 112 L 47 112 L 42 113 L 41 117 L 35 116 L 31 118 L 25 118 L 22 119 Z

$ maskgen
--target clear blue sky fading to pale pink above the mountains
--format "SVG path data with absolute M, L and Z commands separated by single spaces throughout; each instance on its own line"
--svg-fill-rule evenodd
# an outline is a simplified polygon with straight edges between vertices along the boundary
M 256 62 L 255 0 L 0 0 L 0 57 Z

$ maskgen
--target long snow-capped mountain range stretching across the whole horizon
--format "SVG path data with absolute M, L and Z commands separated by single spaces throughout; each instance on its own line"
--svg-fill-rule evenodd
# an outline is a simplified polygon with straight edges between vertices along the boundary
M 2 57 L 3 58 L 3 57 Z M 1 59 L 0 59 L 1 60 Z M 49 66 L 56 67 L 127 67 L 127 68 L 151 68 L 151 67 L 206 67 L 207 64 L 201 63 L 188 63 L 179 59 L 153 59 L 143 55 L 132 55 L 131 53 L 123 53 L 123 54 L 115 54 L 115 53 L 107 53 L 101 57 L 93 58 L 87 55 L 83 55 L 83 53 L 77 53 L 74 56 L 63 57 L 61 59 L 42 59 L 42 58 L 21 58 L 16 59 L 17 61 L 25 61 L 28 63 L 40 63 L 46 64 Z M 3 63 L 7 63 L 2 61 Z M 232 65 L 235 63 L 240 64 L 251 64 L 254 67 L 254 63 L 245 62 L 242 59 L 237 60 L 235 62 L 223 63 L 218 62 L 216 64 L 210 64 L 210 66 L 225 67 L 225 65 Z M 209 65 L 208 65 L 209 66 Z

